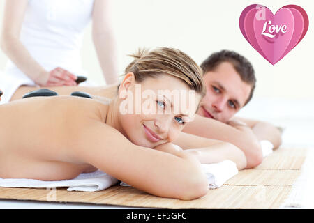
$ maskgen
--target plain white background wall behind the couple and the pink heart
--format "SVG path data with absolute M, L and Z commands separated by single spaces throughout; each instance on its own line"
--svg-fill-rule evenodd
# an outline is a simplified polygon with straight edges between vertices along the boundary
M 3 0 L 0 0 L 0 28 Z M 259 3 L 273 13 L 287 4 L 306 10 L 310 25 L 299 45 L 272 66 L 246 42 L 239 29 L 239 16 L 248 5 Z M 114 33 L 117 38 L 119 74 L 130 62 L 126 56 L 138 47 L 174 47 L 197 63 L 220 49 L 246 56 L 255 68 L 255 97 L 314 100 L 313 49 L 314 1 L 310 0 L 114 0 Z M 0 52 L 0 70 L 7 58 Z M 91 41 L 91 26 L 84 36 L 82 63 L 90 78 L 105 84 Z

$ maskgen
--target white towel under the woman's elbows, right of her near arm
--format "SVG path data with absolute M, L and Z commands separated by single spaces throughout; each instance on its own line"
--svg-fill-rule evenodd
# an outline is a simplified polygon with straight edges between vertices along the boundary
M 207 175 L 209 189 L 221 187 L 227 180 L 238 174 L 237 165 L 231 160 L 224 160 L 214 164 L 202 164 L 202 169 Z M 121 186 L 130 186 L 121 182 Z

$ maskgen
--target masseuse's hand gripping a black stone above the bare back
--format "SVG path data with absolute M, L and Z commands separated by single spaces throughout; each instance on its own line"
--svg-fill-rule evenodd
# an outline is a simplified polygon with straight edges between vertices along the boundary
M 58 67 L 43 73 L 36 83 L 40 86 L 76 86 L 75 79 L 77 77 L 68 70 Z

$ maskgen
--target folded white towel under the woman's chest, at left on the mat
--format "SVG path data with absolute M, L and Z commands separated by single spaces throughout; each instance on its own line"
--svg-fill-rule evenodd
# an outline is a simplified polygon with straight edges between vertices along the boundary
M 93 173 L 80 174 L 71 180 L 43 181 L 33 179 L 0 178 L 0 187 L 31 187 L 31 188 L 53 188 L 68 187 L 68 191 L 98 191 L 104 190 L 118 183 L 116 178 L 98 170 Z

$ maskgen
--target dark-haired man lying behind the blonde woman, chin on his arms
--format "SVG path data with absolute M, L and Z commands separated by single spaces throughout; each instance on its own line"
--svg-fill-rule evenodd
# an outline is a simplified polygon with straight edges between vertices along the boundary
M 251 63 L 237 52 L 223 50 L 211 54 L 201 65 L 207 93 L 193 122 L 183 132 L 209 139 L 227 141 L 241 148 L 246 155 L 246 168 L 262 162 L 260 141 L 267 140 L 274 148 L 281 145 L 281 131 L 264 121 L 234 118 L 234 115 L 252 98 L 255 89 L 255 72 Z M 36 87 L 20 86 L 11 100 L 17 100 Z M 42 88 L 43 89 L 43 88 Z M 50 87 L 60 95 L 83 91 L 94 99 L 112 98 L 117 85 L 100 87 Z

